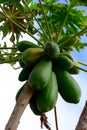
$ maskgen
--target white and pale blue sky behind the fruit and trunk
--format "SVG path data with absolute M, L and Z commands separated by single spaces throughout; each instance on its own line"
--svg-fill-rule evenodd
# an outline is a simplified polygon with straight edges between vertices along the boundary
M 29 37 L 25 37 L 29 39 Z M 86 40 L 84 37 L 83 40 Z M 73 57 L 87 63 L 87 48 L 72 53 Z M 0 130 L 4 130 L 5 125 L 15 106 L 15 95 L 23 82 L 18 81 L 18 75 L 21 69 L 14 70 L 9 64 L 0 65 Z M 59 130 L 75 130 L 80 114 L 87 100 L 87 73 L 80 72 L 74 78 L 78 82 L 82 90 L 81 100 L 78 104 L 66 103 L 60 95 L 58 96 L 57 117 Z M 51 124 L 52 130 L 55 130 L 54 110 L 47 113 L 48 122 Z M 22 115 L 17 130 L 41 130 L 40 117 L 32 113 L 29 106 Z M 45 129 L 45 127 L 43 128 Z

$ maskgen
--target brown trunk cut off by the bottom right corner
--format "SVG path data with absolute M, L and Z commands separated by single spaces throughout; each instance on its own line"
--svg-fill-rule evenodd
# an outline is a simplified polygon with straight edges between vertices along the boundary
M 87 101 L 85 103 L 75 130 L 87 130 Z

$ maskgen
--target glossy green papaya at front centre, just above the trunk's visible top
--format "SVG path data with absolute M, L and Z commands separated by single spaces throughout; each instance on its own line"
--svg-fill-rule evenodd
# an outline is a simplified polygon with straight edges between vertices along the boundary
M 31 71 L 28 82 L 33 89 L 43 89 L 51 75 L 52 62 L 44 59 L 39 61 Z

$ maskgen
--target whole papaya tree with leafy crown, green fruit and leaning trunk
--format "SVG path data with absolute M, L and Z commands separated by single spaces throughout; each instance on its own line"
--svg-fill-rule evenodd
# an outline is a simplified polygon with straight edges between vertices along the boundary
M 67 103 L 79 103 L 82 92 L 73 75 L 87 72 L 87 64 L 75 59 L 72 52 L 87 47 L 87 42 L 81 41 L 87 35 L 87 16 L 81 7 L 86 7 L 86 2 L 0 0 L 2 41 L 7 36 L 10 41 L 0 45 L 0 64 L 15 68 L 18 63 L 17 69 L 22 69 L 18 80 L 24 81 L 5 130 L 17 129 L 28 104 L 41 117 L 41 127 L 49 130 L 46 112 L 54 109 L 58 130 L 58 94 Z M 23 35 L 33 40 L 24 40 Z

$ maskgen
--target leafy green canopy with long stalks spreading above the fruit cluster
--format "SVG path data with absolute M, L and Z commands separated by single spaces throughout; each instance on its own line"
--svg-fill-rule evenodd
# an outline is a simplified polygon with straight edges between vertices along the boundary
M 11 45 L 6 41 L 0 44 L 0 63 L 14 65 L 19 60 L 17 42 L 23 34 L 28 34 L 37 44 L 43 46 L 47 41 L 54 40 L 64 47 L 66 40 L 77 38 L 71 49 L 77 51 L 87 46 L 81 37 L 87 35 L 87 16 L 80 9 L 85 2 L 61 0 L 1 0 L 0 30 L 2 39 L 9 35 Z

